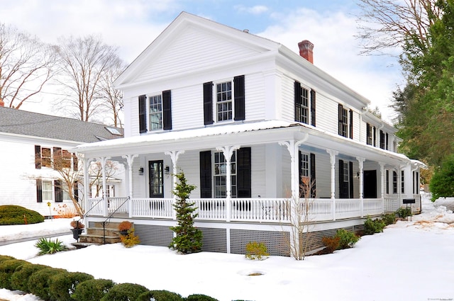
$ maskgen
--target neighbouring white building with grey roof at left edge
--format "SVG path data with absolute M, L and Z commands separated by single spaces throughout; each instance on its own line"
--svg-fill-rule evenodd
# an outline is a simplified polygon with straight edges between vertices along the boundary
M 123 130 L 116 127 L 0 106 L 0 205 L 21 205 L 44 216 L 57 215 L 54 208 L 72 206 L 72 202 L 63 187 L 65 182 L 53 169 L 54 159 L 77 169 L 77 157 L 69 149 L 119 137 L 123 137 Z M 109 192 L 122 195 L 124 185 L 119 184 L 124 167 L 116 169 L 109 179 Z

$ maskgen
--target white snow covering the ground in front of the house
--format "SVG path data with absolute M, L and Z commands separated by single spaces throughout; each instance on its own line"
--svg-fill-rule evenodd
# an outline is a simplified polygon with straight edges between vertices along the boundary
M 446 210 L 453 205 L 454 198 L 431 203 L 424 195 L 423 213 L 411 222 L 362 237 L 353 249 L 304 261 L 280 256 L 250 261 L 243 255 L 209 252 L 178 255 L 165 247 L 126 249 L 121 244 L 36 256 L 35 241 L 0 246 L 0 254 L 182 296 L 203 293 L 220 301 L 454 300 L 454 214 Z M 43 225 L 0 226 L 0 241 L 49 229 L 67 231 L 69 220 Z M 68 245 L 74 242 L 71 235 L 59 239 Z M 252 272 L 262 276 L 248 276 Z M 1 299 L 38 300 L 4 289 Z

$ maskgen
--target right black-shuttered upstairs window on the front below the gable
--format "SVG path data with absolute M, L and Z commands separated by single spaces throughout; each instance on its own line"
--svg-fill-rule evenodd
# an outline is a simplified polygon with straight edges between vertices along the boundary
M 233 81 L 204 83 L 204 125 L 213 124 L 214 116 L 216 123 L 245 120 L 244 75 L 235 76 Z

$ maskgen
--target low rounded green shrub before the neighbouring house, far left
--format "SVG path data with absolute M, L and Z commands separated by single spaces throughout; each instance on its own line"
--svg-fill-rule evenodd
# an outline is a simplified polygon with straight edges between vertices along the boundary
M 43 215 L 18 205 L 0 206 L 0 225 L 26 225 L 44 222 Z

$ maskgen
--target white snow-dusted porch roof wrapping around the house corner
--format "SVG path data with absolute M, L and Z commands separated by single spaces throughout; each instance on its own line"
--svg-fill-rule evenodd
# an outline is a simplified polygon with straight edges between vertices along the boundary
M 238 135 L 240 134 L 240 135 Z M 307 138 L 307 139 L 306 139 Z M 150 154 L 172 150 L 212 149 L 226 145 L 266 144 L 286 140 L 305 140 L 303 145 L 333 149 L 350 157 L 364 157 L 384 164 L 410 164 L 404 154 L 389 152 L 351 140 L 311 125 L 265 120 L 232 123 L 190 130 L 155 132 L 117 140 L 81 144 L 72 152 L 84 157 L 121 157 L 124 154 Z

